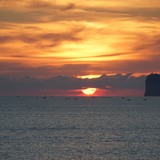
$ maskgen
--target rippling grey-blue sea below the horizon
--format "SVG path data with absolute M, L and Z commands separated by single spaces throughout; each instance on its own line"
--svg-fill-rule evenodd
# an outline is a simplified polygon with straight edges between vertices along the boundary
M 0 160 L 159 160 L 160 97 L 0 97 Z

